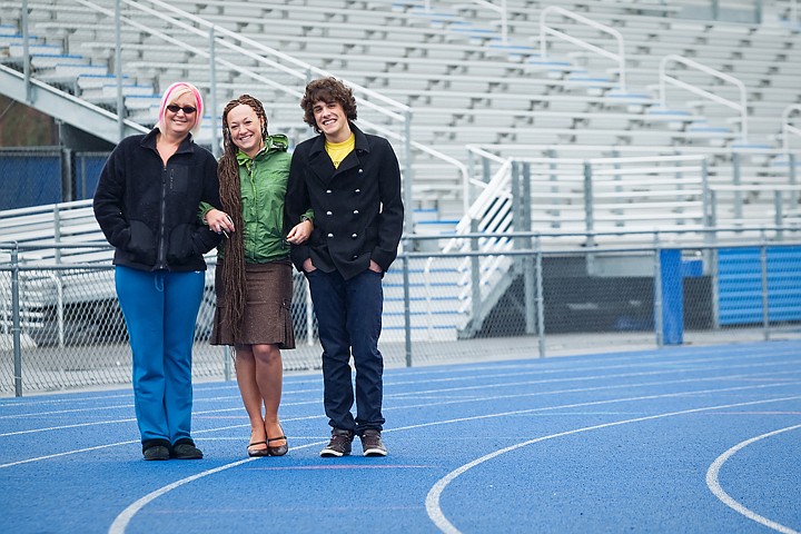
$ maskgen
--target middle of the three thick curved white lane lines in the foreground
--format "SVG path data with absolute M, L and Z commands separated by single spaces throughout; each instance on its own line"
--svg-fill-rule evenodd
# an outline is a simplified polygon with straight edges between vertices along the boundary
M 700 392 L 699 392 L 699 393 L 700 393 Z M 674 396 L 674 395 L 675 395 L 675 394 L 670 395 L 670 396 Z M 656 397 L 656 396 L 650 397 L 650 398 L 655 398 L 655 397 Z M 693 413 L 699 413 L 699 412 L 710 412 L 710 411 L 715 411 L 715 409 L 733 408 L 733 407 L 739 407 L 739 406 L 753 406 L 753 405 L 758 405 L 758 404 L 778 403 L 778 402 L 797 400 L 797 399 L 801 399 L 801 396 L 769 398 L 769 399 L 762 399 L 762 400 L 751 400 L 751 402 L 748 402 L 748 403 L 725 404 L 725 405 L 720 405 L 720 406 L 705 406 L 705 407 L 700 407 L 700 408 L 683 409 L 683 411 L 680 411 L 680 412 L 669 412 L 669 413 L 665 413 L 665 414 L 649 415 L 649 416 L 644 416 L 644 417 L 635 417 L 635 418 L 631 418 L 631 419 L 616 421 L 616 422 L 613 422 L 613 423 L 603 423 L 603 424 L 600 424 L 600 425 L 585 426 L 585 427 L 582 427 L 582 428 L 575 428 L 575 429 L 566 431 L 566 432 L 560 432 L 560 433 L 556 433 L 556 434 L 551 434 L 551 435 L 547 435 L 547 436 L 537 437 L 537 438 L 535 438 L 535 439 L 530 439 L 530 441 L 526 441 L 526 442 L 523 442 L 523 443 L 517 443 L 517 444 L 515 444 L 515 445 L 511 445 L 511 446 L 508 446 L 508 447 L 501 448 L 501 449 L 498 449 L 498 451 L 495 451 L 495 452 L 493 452 L 493 453 L 490 453 L 490 454 L 487 454 L 487 455 L 484 455 L 484 456 L 482 456 L 482 457 L 479 457 L 479 458 L 476 458 L 476 459 L 474 459 L 473 462 L 469 462 L 469 463 L 467 463 L 467 464 L 464 464 L 463 466 L 461 466 L 461 467 L 452 471 L 451 473 L 448 473 L 448 474 L 445 475 L 444 477 L 439 478 L 439 479 L 432 486 L 432 488 L 428 491 L 428 495 L 426 495 L 426 500 L 425 500 L 426 513 L 428 514 L 428 517 L 432 520 L 432 522 L 434 523 L 434 525 L 435 525 L 437 528 L 439 528 L 442 532 L 444 532 L 444 533 L 446 533 L 446 534 L 457 534 L 457 533 L 459 533 L 461 531 L 459 531 L 458 528 L 456 528 L 456 527 L 445 517 L 445 514 L 443 513 L 442 507 L 439 506 L 439 500 L 441 500 L 441 497 L 442 497 L 443 492 L 444 492 L 445 488 L 448 486 L 448 484 L 451 484 L 451 483 L 452 483 L 454 479 L 456 479 L 456 477 L 458 477 L 459 475 L 464 474 L 465 472 L 472 469 L 473 467 L 475 467 L 475 466 L 477 466 L 477 465 L 483 464 L 484 462 L 487 462 L 487 461 L 490 461 L 490 459 L 493 459 L 493 458 L 495 458 L 495 457 L 497 457 L 497 456 L 501 456 L 502 454 L 506 454 L 506 453 L 508 453 L 508 452 L 511 452 L 511 451 L 515 451 L 515 449 L 517 449 L 517 448 L 522 448 L 522 447 L 525 447 L 525 446 L 528 446 L 528 445 L 533 445 L 533 444 L 535 444 L 535 443 L 541 443 L 541 442 L 544 442 L 544 441 L 547 441 L 547 439 L 554 439 L 554 438 L 557 438 L 557 437 L 570 436 L 570 435 L 578 434 L 578 433 L 583 433 L 583 432 L 597 431 L 597 429 L 601 429 L 601 428 L 609 428 L 609 427 L 612 427 L 612 426 L 626 425 L 626 424 L 630 424 L 630 423 L 640 423 L 640 422 L 643 422 L 643 421 L 653 421 L 653 419 L 660 419 L 660 418 L 664 418 L 664 417 L 675 417 L 675 416 L 678 416 L 678 415 L 686 415 L 686 414 L 693 414 Z M 602 400 L 602 402 L 599 402 L 599 403 L 586 403 L 586 404 L 603 404 L 603 403 L 605 403 L 605 402 Z M 518 411 L 518 412 L 511 412 L 510 414 L 518 414 L 518 413 L 527 413 L 527 412 L 534 412 L 534 411 Z M 501 415 L 501 414 L 498 414 L 498 415 Z M 494 415 L 494 416 L 496 416 L 496 415 Z M 456 421 L 471 421 L 471 419 L 477 419 L 477 418 L 482 418 L 482 417 L 487 417 L 487 416 L 465 417 L 465 418 L 453 419 L 453 421 L 454 421 L 454 422 L 456 422 Z M 421 426 L 422 426 L 422 425 L 421 425 Z

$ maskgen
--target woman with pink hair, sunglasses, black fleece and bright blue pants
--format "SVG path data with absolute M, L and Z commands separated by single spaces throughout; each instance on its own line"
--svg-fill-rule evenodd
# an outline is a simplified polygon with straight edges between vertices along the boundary
M 191 350 L 204 254 L 220 239 L 197 215 L 201 201 L 220 206 L 217 161 L 191 136 L 202 109 L 191 83 L 168 87 L 158 125 L 117 145 L 95 192 L 95 217 L 115 247 L 145 459 L 202 458 L 191 438 Z

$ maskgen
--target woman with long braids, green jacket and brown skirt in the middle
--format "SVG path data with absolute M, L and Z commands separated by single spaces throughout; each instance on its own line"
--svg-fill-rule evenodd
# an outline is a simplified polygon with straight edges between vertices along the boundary
M 284 233 L 288 140 L 267 134 L 259 100 L 243 95 L 228 102 L 222 138 L 225 152 L 218 167 L 222 210 L 205 214 L 212 230 L 228 236 L 218 249 L 210 343 L 235 347 L 237 383 L 251 427 L 248 455 L 283 456 L 289 447 L 278 421 L 280 349 L 295 348 L 287 243 L 308 239 L 312 212 Z

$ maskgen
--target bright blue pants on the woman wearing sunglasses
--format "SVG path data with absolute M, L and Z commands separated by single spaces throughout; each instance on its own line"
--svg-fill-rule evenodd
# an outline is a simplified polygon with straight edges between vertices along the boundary
M 204 273 L 118 266 L 117 296 L 134 353 L 134 404 L 142 446 L 191 436 L 191 350 Z

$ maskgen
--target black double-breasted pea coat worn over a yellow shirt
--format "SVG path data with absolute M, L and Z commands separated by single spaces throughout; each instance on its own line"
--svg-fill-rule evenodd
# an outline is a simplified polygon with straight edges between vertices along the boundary
M 400 169 L 389 141 L 364 134 L 353 122 L 354 150 L 334 167 L 325 136 L 299 144 L 291 158 L 285 202 L 287 228 L 312 207 L 314 231 L 293 246 L 291 259 L 303 270 L 306 258 L 324 273 L 350 279 L 373 259 L 388 270 L 403 235 Z

